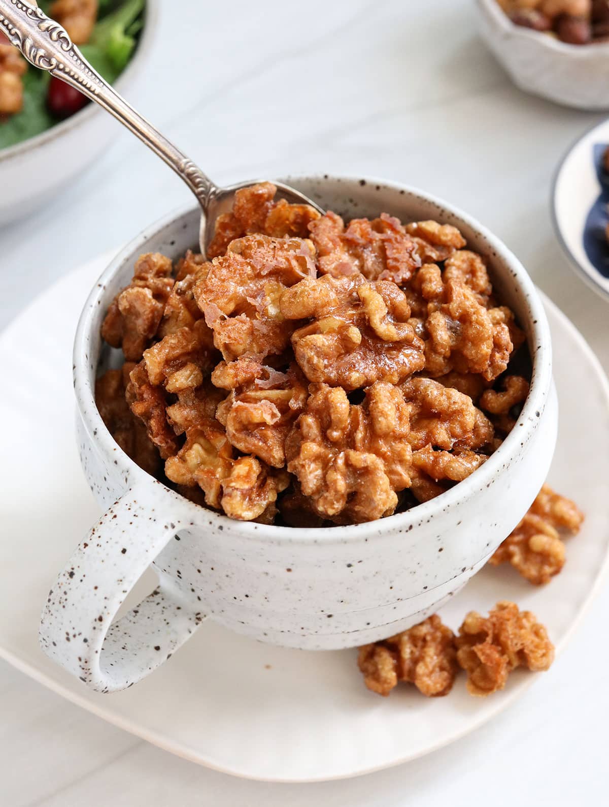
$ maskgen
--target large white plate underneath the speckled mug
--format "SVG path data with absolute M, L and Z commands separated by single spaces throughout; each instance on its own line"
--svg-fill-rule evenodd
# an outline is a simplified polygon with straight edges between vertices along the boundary
M 107 256 L 106 256 L 107 258 Z M 262 645 L 206 623 L 138 686 L 114 695 L 85 689 L 38 648 L 48 587 L 98 508 L 78 463 L 70 355 L 81 304 L 104 257 L 39 297 L 0 337 L 6 382 L 3 424 L 0 655 L 61 695 L 174 754 L 237 776 L 315 781 L 356 776 L 424 755 L 495 716 L 543 674 L 516 671 L 487 700 L 466 694 L 427 700 L 402 686 L 387 699 L 368 692 L 354 650 L 304 652 Z M 558 650 L 599 587 L 607 566 L 609 387 L 573 326 L 547 303 L 561 405 L 550 475 L 586 511 L 568 562 L 547 587 L 510 568 L 480 572 L 442 609 L 458 627 L 470 608 L 513 599 L 548 625 Z M 582 416 L 585 412 L 585 416 Z M 594 445 L 594 451 L 590 451 Z M 135 596 L 147 593 L 150 579 Z M 560 664 L 560 659 L 557 660 Z

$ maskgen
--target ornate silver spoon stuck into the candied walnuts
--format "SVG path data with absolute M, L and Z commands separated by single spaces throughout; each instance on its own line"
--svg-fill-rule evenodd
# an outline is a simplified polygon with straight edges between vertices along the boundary
M 104 81 L 73 44 L 64 28 L 49 19 L 38 7 L 28 5 L 24 0 L 0 0 L 0 32 L 19 48 L 32 65 L 75 87 L 114 115 L 186 182 L 201 205 L 199 244 L 201 253 L 205 255 L 218 215 L 230 210 L 236 190 L 251 186 L 256 181 L 239 182 L 226 188 L 215 185 L 189 157 Z M 277 187 L 278 197 L 289 203 L 309 204 L 320 213 L 324 212 L 298 190 L 281 182 L 273 184 Z

